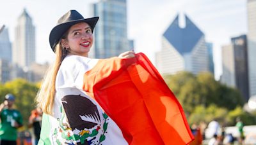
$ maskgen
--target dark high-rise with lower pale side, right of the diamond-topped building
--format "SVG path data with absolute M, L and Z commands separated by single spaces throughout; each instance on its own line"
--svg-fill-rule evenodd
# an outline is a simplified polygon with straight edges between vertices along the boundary
M 248 62 L 246 35 L 231 38 L 231 45 L 223 46 L 223 75 L 221 83 L 236 87 L 243 95 L 244 100 L 249 99 Z

